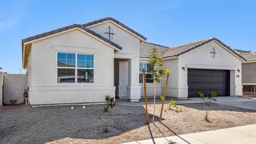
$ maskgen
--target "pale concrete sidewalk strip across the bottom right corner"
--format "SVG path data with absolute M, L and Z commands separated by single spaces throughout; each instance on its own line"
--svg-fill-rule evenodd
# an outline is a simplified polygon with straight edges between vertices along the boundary
M 125 144 L 256 144 L 256 124 Z

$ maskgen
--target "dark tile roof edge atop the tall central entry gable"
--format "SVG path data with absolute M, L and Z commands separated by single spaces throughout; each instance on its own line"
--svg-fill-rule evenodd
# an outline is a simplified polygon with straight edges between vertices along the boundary
M 118 20 L 112 18 L 112 17 L 106 17 L 106 18 L 103 18 L 103 19 L 100 19 L 100 20 L 97 20 L 97 21 L 93 21 L 93 22 L 90 22 L 90 23 L 87 23 L 87 24 L 83 24 L 83 26 L 87 27 L 87 26 L 91 26 L 91 25 L 94 25 L 94 24 L 98 24 L 98 23 L 102 23 L 102 22 L 105 22 L 105 21 L 113 21 L 115 22 L 116 24 L 119 24 L 120 26 L 122 26 L 123 28 L 127 29 L 128 31 L 132 32 L 133 34 L 135 34 L 136 36 L 139 36 L 141 37 L 142 39 L 146 40 L 146 37 L 145 36 L 142 36 L 140 35 L 139 33 L 135 32 L 133 29 L 131 29 L 130 27 L 122 24 L 121 22 L 119 22 Z

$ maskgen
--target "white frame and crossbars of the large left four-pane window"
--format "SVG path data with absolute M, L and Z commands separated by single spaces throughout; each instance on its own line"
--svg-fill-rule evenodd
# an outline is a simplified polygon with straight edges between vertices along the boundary
M 75 54 L 75 67 L 58 67 L 58 52 L 74 53 Z M 93 68 L 80 68 L 77 67 L 77 54 L 93 54 Z M 57 84 L 94 84 L 95 83 L 95 54 L 84 52 L 71 52 L 71 51 L 57 51 L 56 52 L 56 67 L 57 67 Z M 58 83 L 58 69 L 74 69 L 74 83 Z M 93 70 L 93 83 L 77 83 L 77 69 Z

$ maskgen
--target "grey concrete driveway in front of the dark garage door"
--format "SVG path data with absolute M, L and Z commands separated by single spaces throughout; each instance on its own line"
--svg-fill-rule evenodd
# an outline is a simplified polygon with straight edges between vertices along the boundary
M 204 101 L 200 97 L 188 98 L 188 100 Z M 256 110 L 256 99 L 252 98 L 223 96 L 218 97 L 217 101 L 214 103 Z

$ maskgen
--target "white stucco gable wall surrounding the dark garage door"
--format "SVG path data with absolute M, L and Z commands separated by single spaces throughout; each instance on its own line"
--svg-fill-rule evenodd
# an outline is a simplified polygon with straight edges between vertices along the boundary
M 217 54 L 213 59 L 213 54 L 210 53 L 215 48 Z M 178 79 L 179 86 L 183 87 L 179 91 L 179 97 L 187 97 L 188 88 L 187 88 L 187 69 L 188 68 L 202 68 L 202 69 L 221 69 L 221 70 L 231 70 L 231 96 L 241 96 L 243 95 L 242 91 L 242 79 L 241 71 L 242 61 L 234 56 L 231 52 L 224 49 L 217 42 L 212 41 L 203 45 L 202 47 L 196 48 L 181 57 L 179 57 L 179 66 L 178 66 Z M 183 72 L 182 68 L 185 68 Z M 240 70 L 241 73 L 238 73 L 237 70 Z M 239 77 L 237 77 L 237 75 Z

